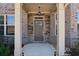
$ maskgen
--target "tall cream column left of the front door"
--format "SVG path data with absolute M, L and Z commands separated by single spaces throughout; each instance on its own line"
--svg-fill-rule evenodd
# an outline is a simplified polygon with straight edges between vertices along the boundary
M 15 56 L 20 56 L 22 54 L 21 7 L 20 3 L 15 3 Z

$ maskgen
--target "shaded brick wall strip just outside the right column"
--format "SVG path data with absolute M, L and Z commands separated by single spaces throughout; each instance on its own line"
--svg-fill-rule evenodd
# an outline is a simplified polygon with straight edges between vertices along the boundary
M 65 8 L 65 45 L 71 47 L 71 4 Z

